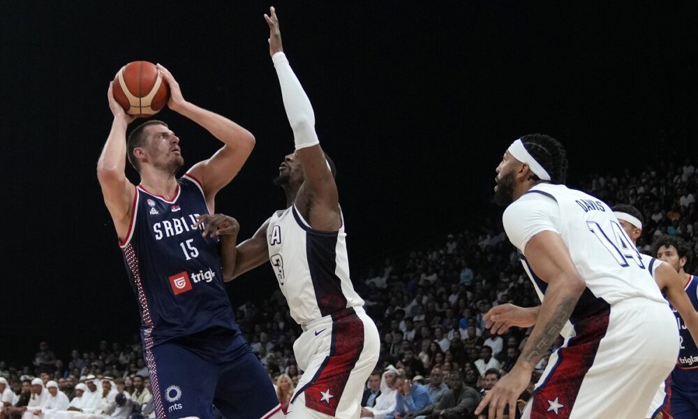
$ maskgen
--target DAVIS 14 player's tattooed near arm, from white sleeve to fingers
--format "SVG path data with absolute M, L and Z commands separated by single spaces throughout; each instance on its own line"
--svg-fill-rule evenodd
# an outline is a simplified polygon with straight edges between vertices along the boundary
M 509 233 L 509 232 L 507 232 Z M 584 292 L 585 283 L 567 251 L 562 237 L 554 231 L 542 231 L 528 241 L 524 251 L 533 272 L 547 282 L 533 332 L 511 372 L 487 393 L 475 413 L 489 406 L 490 418 L 496 413 L 501 418 L 507 404 L 510 412 L 516 409 L 517 397 L 526 389 L 533 367 L 560 335 L 570 319 L 572 310 Z

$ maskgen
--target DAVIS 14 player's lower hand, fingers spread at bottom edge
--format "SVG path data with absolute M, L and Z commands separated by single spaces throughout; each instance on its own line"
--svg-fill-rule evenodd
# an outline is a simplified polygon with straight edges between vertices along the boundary
M 517 409 L 517 400 L 530 382 L 530 374 L 530 369 L 514 365 L 511 372 L 502 376 L 492 390 L 482 398 L 482 402 L 475 409 L 475 415 L 479 415 L 487 408 L 487 419 L 502 419 L 504 409 L 509 405 L 509 417 L 513 418 Z

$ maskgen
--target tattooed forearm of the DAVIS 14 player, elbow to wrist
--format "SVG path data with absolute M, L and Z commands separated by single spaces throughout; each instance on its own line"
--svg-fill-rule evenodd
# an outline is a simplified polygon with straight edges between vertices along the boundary
M 579 285 L 581 279 L 575 279 L 578 286 L 570 286 L 569 281 L 555 281 L 549 284 L 543 303 L 538 307 L 537 321 L 533 327 L 526 346 L 517 360 L 517 365 L 533 369 L 543 355 L 549 353 L 550 346 L 560 335 L 575 304 L 584 288 Z M 581 282 L 581 284 L 584 284 Z

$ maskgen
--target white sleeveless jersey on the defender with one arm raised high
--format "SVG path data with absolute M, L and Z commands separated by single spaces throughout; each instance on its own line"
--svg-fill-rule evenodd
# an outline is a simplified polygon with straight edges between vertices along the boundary
M 334 233 L 313 230 L 292 205 L 269 219 L 267 247 L 296 323 L 304 325 L 364 305 L 349 278 L 344 220 Z

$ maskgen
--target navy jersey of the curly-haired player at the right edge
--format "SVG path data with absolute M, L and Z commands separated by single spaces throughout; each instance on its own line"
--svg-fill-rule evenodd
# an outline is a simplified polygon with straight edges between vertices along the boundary
M 698 310 L 698 278 L 691 275 L 688 283 L 685 286 L 688 299 L 691 300 L 693 307 Z M 678 311 L 671 307 L 676 316 L 678 323 L 678 334 L 681 339 L 681 348 L 678 351 L 678 360 L 676 368 L 671 373 L 672 385 L 678 385 L 679 388 L 698 388 L 698 346 L 693 341 L 686 323 L 678 314 Z M 688 387 L 686 387 L 688 385 Z

